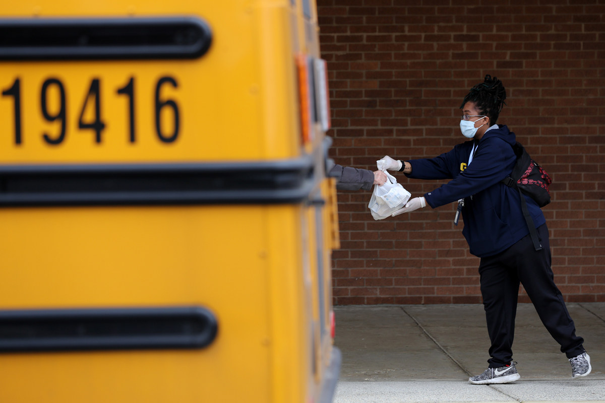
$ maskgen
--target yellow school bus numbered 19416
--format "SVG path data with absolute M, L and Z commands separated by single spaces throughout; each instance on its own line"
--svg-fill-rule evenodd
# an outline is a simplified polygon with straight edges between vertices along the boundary
M 312 0 L 0 8 L 0 402 L 329 402 Z

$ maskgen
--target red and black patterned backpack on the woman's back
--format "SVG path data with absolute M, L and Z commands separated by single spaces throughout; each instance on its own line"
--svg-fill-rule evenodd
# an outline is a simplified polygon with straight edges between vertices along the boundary
M 544 207 L 551 202 L 551 193 L 548 191 L 548 186 L 552 183 L 552 179 L 538 163 L 531 159 L 525 147 L 520 143 L 515 143 L 512 146 L 512 150 L 517 156 L 517 162 L 512 169 L 511 175 L 502 179 L 502 183 L 517 189 L 519 192 L 521 209 L 523 210 L 525 222 L 528 224 L 529 234 L 534 242 L 535 250 L 539 251 L 542 245 L 538 240 L 538 233 L 535 230 L 534 221 L 529 215 L 527 202 L 522 192 L 534 199 L 539 207 Z

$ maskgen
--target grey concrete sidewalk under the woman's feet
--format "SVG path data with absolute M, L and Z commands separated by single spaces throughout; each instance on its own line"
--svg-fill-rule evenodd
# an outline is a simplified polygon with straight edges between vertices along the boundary
M 605 401 L 605 303 L 569 303 L 592 372 L 571 366 L 535 313 L 519 304 L 514 357 L 521 379 L 471 385 L 488 366 L 483 305 L 336 306 L 342 369 L 335 403 Z

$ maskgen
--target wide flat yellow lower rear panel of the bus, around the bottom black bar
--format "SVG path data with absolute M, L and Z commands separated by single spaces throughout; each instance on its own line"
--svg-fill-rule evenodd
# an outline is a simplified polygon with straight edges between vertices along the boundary
M 202 306 L 200 350 L 0 353 L 0 401 L 267 402 L 267 207 L 0 210 L 0 309 Z

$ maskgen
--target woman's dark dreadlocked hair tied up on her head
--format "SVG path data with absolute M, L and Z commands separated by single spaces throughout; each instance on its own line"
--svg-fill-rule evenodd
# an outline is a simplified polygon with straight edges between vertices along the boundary
M 500 111 L 506 105 L 506 89 L 502 85 L 502 81 L 497 77 L 492 77 L 487 74 L 482 83 L 477 84 L 471 91 L 468 92 L 460 109 L 467 102 L 473 102 L 480 114 L 489 117 L 489 124 L 495 124 L 500 115 Z

